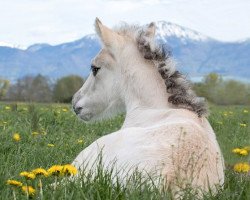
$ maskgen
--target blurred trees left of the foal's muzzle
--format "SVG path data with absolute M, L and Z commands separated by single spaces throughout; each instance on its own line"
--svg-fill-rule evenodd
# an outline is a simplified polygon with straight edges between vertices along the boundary
M 12 84 L 0 79 L 0 100 L 68 103 L 83 83 L 84 79 L 76 75 L 62 77 L 55 83 L 40 74 L 25 76 Z

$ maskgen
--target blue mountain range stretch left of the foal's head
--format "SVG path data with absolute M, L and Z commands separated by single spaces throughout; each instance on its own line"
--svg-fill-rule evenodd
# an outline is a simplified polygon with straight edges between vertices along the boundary
M 38 73 L 56 79 L 69 74 L 87 76 L 100 49 L 94 35 L 56 46 L 35 44 L 26 50 L 0 47 L 0 77 L 16 80 Z

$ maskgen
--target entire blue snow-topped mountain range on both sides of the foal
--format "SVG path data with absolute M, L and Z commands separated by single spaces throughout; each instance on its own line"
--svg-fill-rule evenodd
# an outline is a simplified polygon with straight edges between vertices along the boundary
M 170 22 L 160 21 L 156 25 L 157 40 L 172 50 L 178 68 L 190 77 L 216 72 L 249 79 L 250 40 L 221 42 Z M 69 74 L 86 77 L 99 49 L 95 35 L 55 46 L 34 44 L 25 50 L 0 43 L 0 77 L 16 80 L 38 73 L 51 79 Z

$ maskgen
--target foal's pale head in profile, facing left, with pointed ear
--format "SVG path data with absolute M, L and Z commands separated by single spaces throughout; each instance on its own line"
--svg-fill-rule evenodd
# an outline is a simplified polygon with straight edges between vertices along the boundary
M 139 53 L 131 38 L 109 29 L 99 19 L 95 21 L 95 29 L 102 49 L 92 60 L 92 72 L 72 102 L 75 113 L 84 121 L 98 120 L 124 110 L 121 67 Z

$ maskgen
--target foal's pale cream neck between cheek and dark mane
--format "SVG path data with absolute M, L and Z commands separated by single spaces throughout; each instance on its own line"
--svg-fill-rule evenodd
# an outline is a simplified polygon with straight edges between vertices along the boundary
M 171 108 L 164 80 L 149 63 L 134 66 L 126 74 L 124 94 L 126 118 L 124 127 L 145 127 L 159 122 L 162 114 Z

